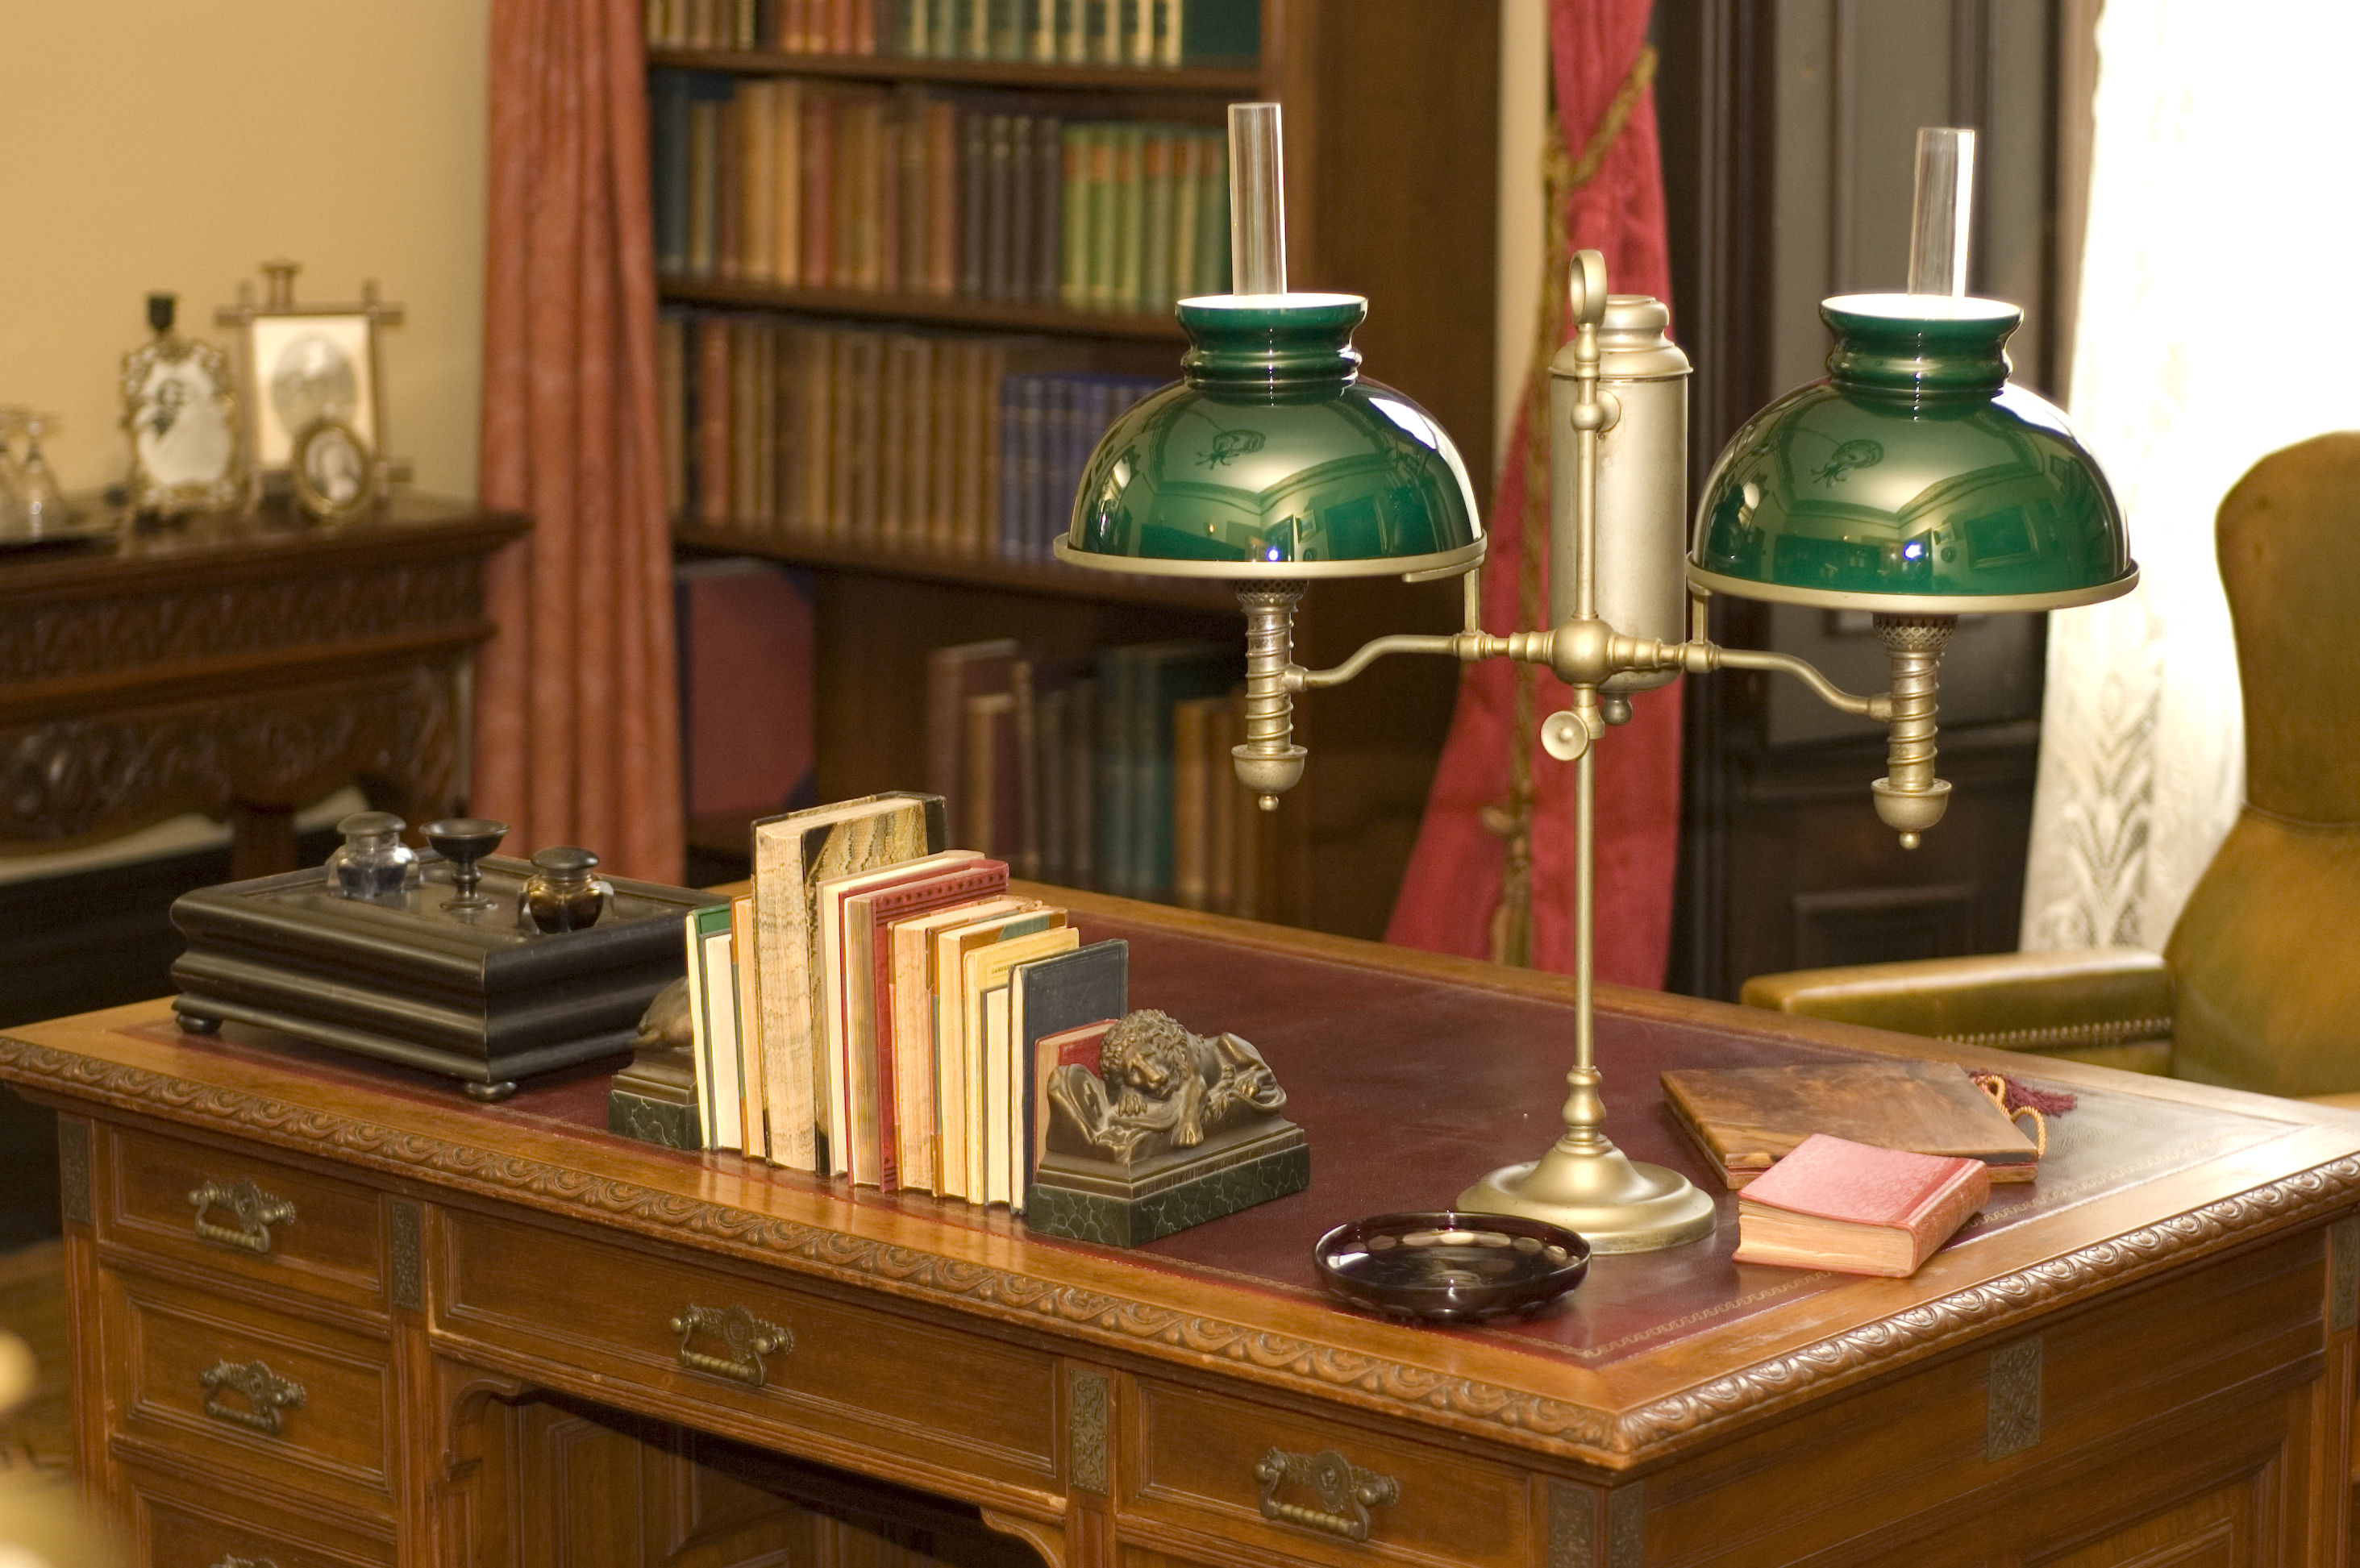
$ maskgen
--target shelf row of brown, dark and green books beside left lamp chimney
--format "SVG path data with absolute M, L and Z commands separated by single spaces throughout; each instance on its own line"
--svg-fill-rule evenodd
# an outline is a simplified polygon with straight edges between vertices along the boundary
M 1218 130 L 654 71 L 649 132 L 663 276 L 1128 314 L 1230 285 Z

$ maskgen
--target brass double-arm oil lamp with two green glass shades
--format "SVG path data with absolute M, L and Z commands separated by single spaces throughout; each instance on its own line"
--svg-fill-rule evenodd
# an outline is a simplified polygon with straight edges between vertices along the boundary
M 1971 299 L 1973 132 L 1919 132 L 1907 295 L 1820 307 L 1827 380 L 1763 408 L 1720 453 L 1690 526 L 1687 356 L 1669 311 L 1610 295 L 1576 252 L 1574 337 L 1548 368 L 1551 625 L 1489 634 L 1475 488 L 1442 427 L 1359 377 L 1357 295 L 1286 292 L 1277 104 L 1230 108 L 1232 295 L 1180 302 L 1185 380 L 1100 441 L 1057 559 L 1126 573 L 1232 578 L 1246 613 L 1239 780 L 1277 809 L 1303 776 L 1300 691 L 1350 681 L 1385 653 L 1548 665 L 1572 689 L 1541 745 L 1572 762 L 1576 1033 L 1565 1137 L 1492 1172 L 1456 1207 L 1579 1231 L 1595 1252 L 1709 1236 L 1713 1200 L 1605 1137 L 1593 1040 L 1593 747 L 1631 691 L 1711 670 L 1779 670 L 1829 705 L 1888 726 L 1869 785 L 1905 849 L 1942 818 L 1935 667 L 1968 611 L 2096 604 L 2138 582 L 2122 512 L 2065 415 L 2008 384 L 2023 311 Z M 1685 549 L 1683 549 L 1685 540 Z M 1333 670 L 1291 658 L 1293 611 L 1317 578 L 1466 582 L 1466 630 L 1378 637 Z M 1890 691 L 1850 696 L 1808 663 L 1704 637 L 1709 594 L 1874 613 Z

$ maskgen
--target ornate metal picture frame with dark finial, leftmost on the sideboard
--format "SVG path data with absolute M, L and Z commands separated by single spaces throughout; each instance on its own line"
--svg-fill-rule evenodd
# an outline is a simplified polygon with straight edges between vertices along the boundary
M 149 516 L 231 512 L 245 498 L 245 429 L 229 356 L 160 332 L 123 356 L 130 505 Z

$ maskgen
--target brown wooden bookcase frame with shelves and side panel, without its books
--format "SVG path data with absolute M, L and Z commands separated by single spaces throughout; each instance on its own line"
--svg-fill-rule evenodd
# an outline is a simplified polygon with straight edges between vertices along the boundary
M 937 17 L 968 14 L 968 0 L 909 2 L 932 5 Z M 1064 14 L 1064 0 L 1050 2 Z M 677 90 L 670 73 L 703 73 L 699 80 L 758 87 L 767 104 L 788 92 L 899 106 L 951 104 L 977 116 L 1140 125 L 1149 127 L 1149 139 L 1166 132 L 1173 144 L 1187 132 L 1218 132 L 1230 101 L 1277 99 L 1286 106 L 1291 285 L 1366 295 L 1369 323 L 1357 335 L 1366 373 L 1430 408 L 1473 465 L 1489 465 L 1499 137 L 1494 0 L 1260 0 L 1258 57 L 1180 66 L 911 57 L 897 52 L 906 47 L 909 24 L 892 0 L 663 0 L 651 7 L 651 38 L 682 35 L 677 26 L 658 31 L 673 5 L 710 5 L 715 14 L 699 17 L 708 28 L 699 35 L 739 47 L 651 42 L 649 68 L 658 94 Z M 1031 17 L 1034 5 L 1024 0 L 1010 17 Z M 1166 19 L 1187 17 L 1197 5 L 1107 0 L 1097 12 L 1119 19 L 1135 7 L 1140 17 Z M 812 33 L 795 38 L 800 50 L 741 47 L 776 45 L 781 28 L 805 24 Z M 821 24 L 838 31 L 831 35 Z M 847 38 L 857 45 L 873 40 L 876 52 L 833 47 Z M 1024 52 L 1022 45 L 1017 52 Z M 909 113 L 904 125 L 923 127 L 923 113 Z M 658 160 L 666 156 L 661 134 Z M 913 139 L 909 158 L 923 163 L 925 149 L 916 146 L 916 137 L 930 132 L 897 134 Z M 1218 146 L 1218 137 L 1208 144 Z M 1001 222 L 1008 231 L 1012 215 L 994 215 L 994 196 L 998 203 L 1015 200 L 1008 182 L 996 193 L 991 184 L 975 182 L 951 205 L 961 222 Z M 920 207 L 906 203 L 904 210 Z M 1038 215 L 1038 203 L 1027 210 Z M 942 207 L 935 212 L 939 217 Z M 776 222 L 776 212 L 769 217 Z M 1081 373 L 1178 377 L 1185 337 L 1168 307 L 1126 309 L 1123 295 L 1114 302 L 1104 295 L 1097 302 L 1076 299 L 1071 269 L 1057 297 L 1048 297 L 1045 278 L 1029 290 L 1003 285 L 998 297 L 965 288 L 977 278 L 953 278 L 944 288 L 939 257 L 930 262 L 925 243 L 904 233 L 871 236 L 871 245 L 902 250 L 890 264 L 876 255 L 859 259 L 850 269 L 852 285 L 838 276 L 847 271 L 843 266 L 772 266 L 762 276 L 739 269 L 739 276 L 722 276 L 722 266 L 708 264 L 691 274 L 663 222 L 658 217 L 658 250 L 668 250 L 663 259 L 673 262 L 661 271 L 668 311 L 743 311 L 750 321 L 817 332 L 916 330 L 944 342 L 1008 335 L 1027 351 L 1043 351 L 1048 363 Z M 1043 245 L 1031 255 L 1045 274 Z M 831 259 L 843 255 L 838 248 Z M 798 281 L 779 281 L 788 274 Z M 1185 262 L 1171 262 L 1161 283 L 1166 295 L 1206 288 L 1201 269 L 1189 274 Z M 1213 288 L 1220 288 L 1218 278 Z M 1152 295 L 1154 285 L 1145 292 Z M 1140 299 L 1140 292 L 1128 297 Z M 675 502 L 675 540 L 684 554 L 746 554 L 812 573 L 814 778 L 821 799 L 911 788 L 925 776 L 932 648 L 996 637 L 1022 639 L 1050 658 L 1156 639 L 1239 639 L 1241 646 L 1234 597 L 1218 585 L 1083 573 L 1022 547 L 1003 554 L 989 538 L 953 545 L 927 538 L 923 528 L 880 535 L 854 531 L 840 516 L 805 514 L 795 526 L 781 526 L 779 509 L 750 516 L 696 505 L 677 486 Z M 840 490 L 833 502 L 843 502 Z M 828 505 L 824 490 L 814 490 L 814 507 L 826 512 Z M 1315 667 L 1336 663 L 1366 637 L 1449 632 L 1456 618 L 1454 582 L 1322 585 L 1303 604 L 1298 660 Z M 1298 738 L 1312 762 L 1303 785 L 1258 830 L 1267 865 L 1253 913 L 1352 936 L 1383 931 L 1454 689 L 1456 670 L 1442 660 L 1392 660 L 1371 681 L 1298 703 Z M 691 842 L 743 854 L 743 821 L 694 821 Z

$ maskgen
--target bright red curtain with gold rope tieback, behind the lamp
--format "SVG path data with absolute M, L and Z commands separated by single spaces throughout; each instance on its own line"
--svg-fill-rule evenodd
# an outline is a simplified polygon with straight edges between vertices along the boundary
M 1551 0 L 1551 52 L 1565 146 L 1579 160 L 1607 120 L 1614 94 L 1633 75 L 1647 40 L 1652 0 Z M 1654 90 L 1631 108 L 1598 165 L 1574 189 L 1567 226 L 1576 250 L 1600 250 L 1619 295 L 1671 299 L 1664 238 L 1664 177 L 1657 156 Z M 1522 561 L 1525 443 L 1517 420 L 1492 509 L 1484 561 L 1484 627 L 1510 632 Z M 1546 561 L 1543 575 L 1546 582 Z M 1503 839 L 1482 813 L 1508 797 L 1513 670 L 1503 660 L 1470 665 L 1458 684 L 1442 766 L 1425 804 L 1418 846 L 1392 908 L 1385 941 L 1433 953 L 1489 957 L 1492 913 L 1501 894 Z M 1565 707 L 1567 691 L 1539 677 L 1541 717 Z M 1574 769 L 1532 752 L 1532 964 L 1574 967 Z M 1680 686 L 1640 693 L 1633 719 L 1598 743 L 1598 979 L 1661 986 L 1671 955 L 1671 891 L 1680 844 Z

